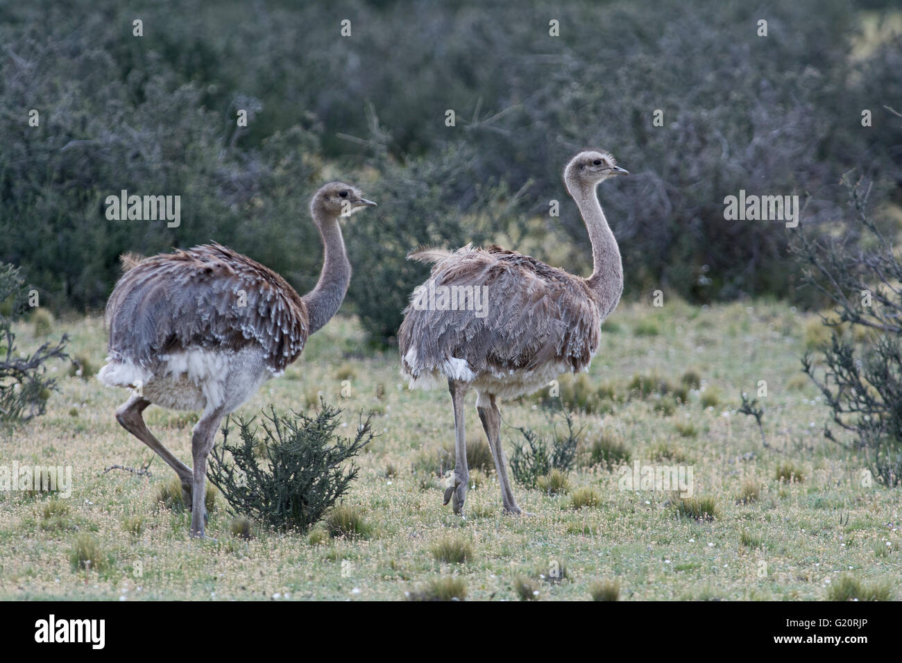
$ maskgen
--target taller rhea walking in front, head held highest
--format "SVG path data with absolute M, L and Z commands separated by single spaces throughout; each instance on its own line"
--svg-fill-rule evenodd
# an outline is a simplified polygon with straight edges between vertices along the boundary
M 522 512 L 508 480 L 498 401 L 536 391 L 561 373 L 585 371 L 592 362 L 602 322 L 623 291 L 620 250 L 596 187 L 626 174 L 610 153 L 594 151 L 580 152 L 564 170 L 566 189 L 592 243 L 594 268 L 587 279 L 496 245 L 468 244 L 454 253 L 425 249 L 408 256 L 434 266 L 404 311 L 398 333 L 401 373 L 412 388 L 447 380 L 456 465 L 444 503 L 452 501 L 458 514 L 463 515 L 469 481 L 464 397 L 470 387 L 477 391 L 476 411 L 492 449 L 504 511 Z M 483 290 L 488 300 L 481 314 L 475 306 L 460 306 L 459 298 L 454 308 L 424 306 L 422 293 L 442 286 Z

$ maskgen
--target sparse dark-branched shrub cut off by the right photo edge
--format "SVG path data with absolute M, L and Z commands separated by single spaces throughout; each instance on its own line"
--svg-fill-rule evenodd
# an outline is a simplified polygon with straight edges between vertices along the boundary
M 866 212 L 867 189 L 856 185 L 851 196 L 857 217 L 847 236 L 801 235 L 796 247 L 806 281 L 835 306 L 824 318 L 829 345 L 802 365 L 871 472 L 894 486 L 902 483 L 902 262 Z M 824 435 L 835 439 L 830 428 Z

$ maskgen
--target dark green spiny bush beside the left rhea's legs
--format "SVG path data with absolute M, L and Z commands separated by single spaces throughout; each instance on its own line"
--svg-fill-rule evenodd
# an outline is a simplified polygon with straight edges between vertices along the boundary
M 345 461 L 373 439 L 373 432 L 370 419 L 361 419 L 354 438 L 336 437 L 341 410 L 325 401 L 314 417 L 292 414 L 271 407 L 263 412 L 259 428 L 253 426 L 255 418 L 239 419 L 236 444 L 229 442 L 226 423 L 207 475 L 233 512 L 278 529 L 306 531 L 347 493 L 358 469 L 353 463 L 345 467 Z M 266 461 L 256 452 L 260 444 L 266 448 Z

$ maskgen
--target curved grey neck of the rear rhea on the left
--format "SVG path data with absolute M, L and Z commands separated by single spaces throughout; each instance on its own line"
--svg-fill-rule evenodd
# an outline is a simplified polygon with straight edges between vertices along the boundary
M 315 221 L 319 236 L 323 240 L 323 271 L 319 273 L 317 287 L 310 290 L 303 299 L 307 305 L 310 334 L 323 327 L 336 314 L 345 299 L 348 283 L 351 282 L 351 263 L 345 253 L 345 241 L 335 216 L 317 217 Z

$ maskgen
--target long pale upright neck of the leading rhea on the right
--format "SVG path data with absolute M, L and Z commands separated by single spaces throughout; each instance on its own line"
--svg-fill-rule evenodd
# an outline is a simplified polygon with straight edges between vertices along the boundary
M 604 217 L 595 188 L 576 187 L 570 194 L 583 215 L 585 227 L 592 242 L 592 276 L 586 281 L 597 298 L 602 315 L 607 316 L 617 307 L 623 293 L 623 263 L 617 240 Z

